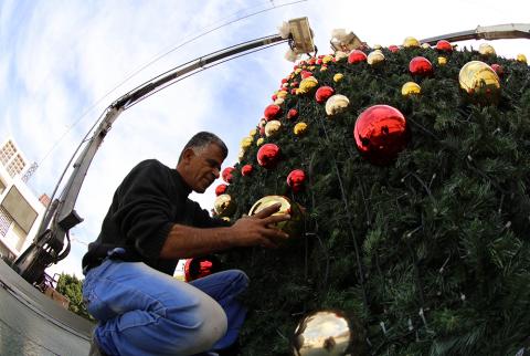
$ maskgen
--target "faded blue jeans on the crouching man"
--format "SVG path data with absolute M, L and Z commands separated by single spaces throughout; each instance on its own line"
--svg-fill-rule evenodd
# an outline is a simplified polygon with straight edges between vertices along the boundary
M 237 339 L 246 314 L 237 296 L 247 285 L 239 270 L 184 283 L 142 262 L 107 259 L 86 274 L 83 300 L 109 355 L 195 355 Z

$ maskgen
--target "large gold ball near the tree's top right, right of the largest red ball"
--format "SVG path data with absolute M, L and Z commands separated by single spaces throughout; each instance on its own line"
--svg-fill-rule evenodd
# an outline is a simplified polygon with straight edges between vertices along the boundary
M 499 76 L 484 62 L 471 61 L 466 63 L 458 74 L 458 82 L 471 103 L 489 105 L 497 104 L 499 101 Z

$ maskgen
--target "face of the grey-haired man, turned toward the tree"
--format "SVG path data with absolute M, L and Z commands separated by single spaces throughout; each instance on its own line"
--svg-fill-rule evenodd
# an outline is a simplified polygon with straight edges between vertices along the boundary
M 218 145 L 210 144 L 203 149 L 195 149 L 189 159 L 188 184 L 194 191 L 204 192 L 219 178 L 223 151 Z

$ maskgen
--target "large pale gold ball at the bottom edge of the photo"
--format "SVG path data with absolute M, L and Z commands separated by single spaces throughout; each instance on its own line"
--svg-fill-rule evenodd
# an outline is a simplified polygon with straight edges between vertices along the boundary
M 317 311 L 298 323 L 293 337 L 293 352 L 295 356 L 359 355 L 356 350 L 349 350 L 354 337 L 343 313 Z

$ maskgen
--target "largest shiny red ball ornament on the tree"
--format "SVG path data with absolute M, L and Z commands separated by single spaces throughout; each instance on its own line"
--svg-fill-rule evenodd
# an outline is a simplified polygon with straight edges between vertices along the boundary
M 374 165 L 386 165 L 409 142 L 406 119 L 392 106 L 373 105 L 357 118 L 353 137 L 364 158 Z

